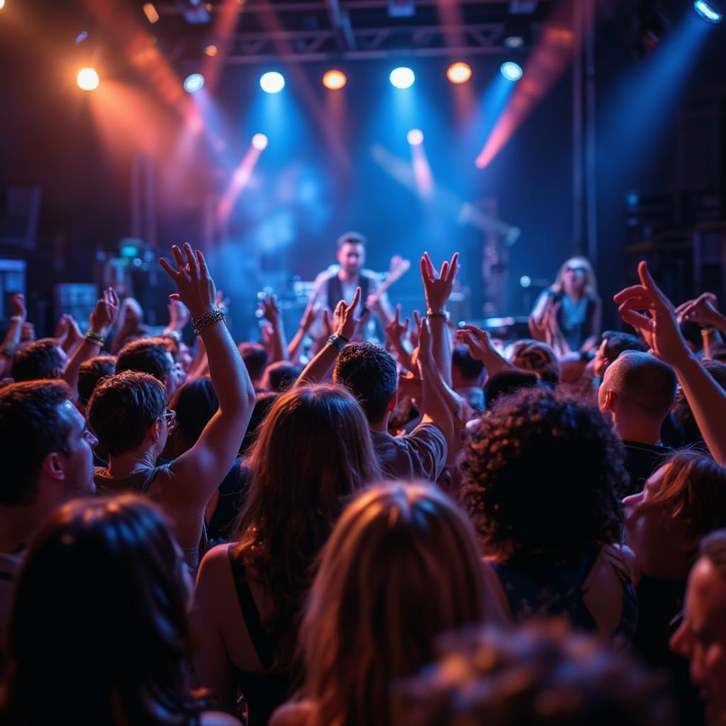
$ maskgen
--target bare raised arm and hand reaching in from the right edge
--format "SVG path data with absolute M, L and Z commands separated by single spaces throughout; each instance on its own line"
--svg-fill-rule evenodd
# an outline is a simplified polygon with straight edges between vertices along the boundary
M 643 333 L 653 353 L 672 365 L 693 411 L 698 430 L 719 464 L 726 464 L 726 391 L 711 378 L 690 351 L 678 327 L 671 301 L 661 292 L 648 272 L 638 265 L 640 285 L 626 287 L 613 298 L 619 303 L 624 322 Z M 651 317 L 638 312 L 645 310 Z

